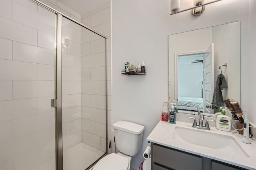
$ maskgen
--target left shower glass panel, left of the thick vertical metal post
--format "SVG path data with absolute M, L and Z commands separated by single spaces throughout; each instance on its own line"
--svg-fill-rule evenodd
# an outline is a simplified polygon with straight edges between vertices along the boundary
M 0 170 L 54 170 L 56 14 L 4 0 L 0 25 Z

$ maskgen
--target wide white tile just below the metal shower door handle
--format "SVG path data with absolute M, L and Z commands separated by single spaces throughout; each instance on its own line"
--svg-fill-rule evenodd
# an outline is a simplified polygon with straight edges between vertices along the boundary
M 44 113 L 30 117 L 13 120 L 14 137 L 22 137 L 23 135 L 34 133 L 55 125 L 55 113 Z

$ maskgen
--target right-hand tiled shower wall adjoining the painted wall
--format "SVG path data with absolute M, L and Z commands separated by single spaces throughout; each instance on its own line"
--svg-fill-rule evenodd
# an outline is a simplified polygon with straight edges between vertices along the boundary
M 98 31 L 99 33 L 102 33 L 107 39 L 107 59 L 106 59 L 106 65 L 107 65 L 107 99 L 108 99 L 108 143 L 109 140 L 112 139 L 112 122 L 111 122 L 111 47 L 110 47 L 110 39 L 111 39 L 111 28 L 110 28 L 110 2 L 103 4 L 102 6 L 99 6 L 98 8 L 82 15 L 81 22 Z M 86 31 L 82 32 L 82 38 L 84 37 L 92 37 L 91 35 L 88 35 Z M 93 38 L 92 38 L 93 39 Z M 97 37 L 95 37 L 97 39 Z M 88 40 L 89 41 L 89 40 Z M 98 42 L 97 42 L 98 41 Z M 98 43 L 99 47 L 102 45 L 103 41 L 102 39 L 98 39 L 96 41 L 92 41 L 91 43 Z M 82 49 L 84 47 L 88 47 L 88 43 L 85 43 L 82 45 Z M 90 51 L 90 53 L 82 54 L 82 99 L 86 98 L 88 102 L 91 102 L 91 105 L 89 106 L 82 106 L 82 138 L 83 142 L 94 146 L 99 144 L 100 140 L 100 146 L 101 150 L 105 150 L 105 138 L 103 136 L 104 134 L 104 108 L 100 107 L 100 104 L 105 102 L 103 100 L 104 93 L 104 83 L 100 80 L 103 80 L 103 77 L 100 78 L 94 78 L 91 77 L 89 79 L 88 77 L 86 79 L 83 78 L 83 72 L 86 74 L 86 72 L 90 72 L 91 75 L 94 75 L 95 72 L 102 72 L 103 68 L 102 66 L 105 63 L 103 62 L 105 53 L 100 53 L 100 51 L 103 51 L 103 49 L 98 49 L 97 51 Z M 89 74 L 89 73 L 88 73 Z M 95 75 L 94 75 L 95 76 Z M 88 86 L 90 89 L 90 93 L 86 92 L 85 87 Z M 99 90 L 100 89 L 100 90 Z M 104 96 L 105 97 L 105 96 Z M 82 102 L 83 103 L 83 102 Z M 83 123 L 84 122 L 84 123 Z M 86 125 L 83 127 L 83 125 Z M 96 128 L 100 127 L 100 128 Z M 85 139 L 91 138 L 92 141 L 87 141 Z M 113 146 L 113 145 L 112 145 Z M 96 147 L 98 148 L 98 147 Z M 99 148 L 98 148 L 99 149 Z M 109 152 L 112 152 L 112 148 L 109 150 Z

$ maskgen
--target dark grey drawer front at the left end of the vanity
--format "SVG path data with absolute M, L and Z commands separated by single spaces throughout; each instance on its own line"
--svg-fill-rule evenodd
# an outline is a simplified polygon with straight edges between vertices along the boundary
M 161 147 L 153 147 L 153 162 L 176 170 L 201 170 L 202 158 L 186 152 Z

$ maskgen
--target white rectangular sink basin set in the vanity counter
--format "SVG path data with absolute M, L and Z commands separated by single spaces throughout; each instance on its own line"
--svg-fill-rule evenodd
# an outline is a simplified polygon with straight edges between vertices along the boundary
M 209 133 L 201 129 L 175 127 L 172 139 L 214 150 L 220 150 L 222 153 L 225 152 L 250 157 L 233 137 L 227 135 Z

